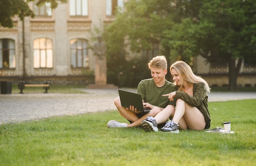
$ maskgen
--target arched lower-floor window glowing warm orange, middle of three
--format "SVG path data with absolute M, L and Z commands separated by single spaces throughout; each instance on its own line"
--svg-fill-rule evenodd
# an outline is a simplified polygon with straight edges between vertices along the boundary
M 34 40 L 34 68 L 52 68 L 52 40 L 49 38 L 37 38 Z

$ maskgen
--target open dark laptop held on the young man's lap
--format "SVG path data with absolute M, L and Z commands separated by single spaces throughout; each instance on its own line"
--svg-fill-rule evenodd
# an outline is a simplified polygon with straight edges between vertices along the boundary
M 120 89 L 118 90 L 118 93 L 123 107 L 129 108 L 130 105 L 133 105 L 138 111 L 150 111 L 150 109 L 143 107 L 141 94 Z

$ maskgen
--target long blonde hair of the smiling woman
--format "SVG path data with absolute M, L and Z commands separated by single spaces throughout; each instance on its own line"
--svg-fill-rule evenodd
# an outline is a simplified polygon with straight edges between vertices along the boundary
M 188 85 L 195 84 L 195 83 L 203 83 L 205 92 L 210 93 L 211 88 L 209 87 L 208 83 L 204 79 L 202 79 L 200 76 L 195 75 L 191 67 L 188 64 L 186 64 L 184 61 L 177 61 L 173 63 L 170 67 L 170 71 L 172 69 L 175 69 L 177 73 L 180 75 L 180 77 L 182 78 L 181 84 L 178 90 L 183 91 L 183 84 L 184 84 L 184 81 L 186 81 Z

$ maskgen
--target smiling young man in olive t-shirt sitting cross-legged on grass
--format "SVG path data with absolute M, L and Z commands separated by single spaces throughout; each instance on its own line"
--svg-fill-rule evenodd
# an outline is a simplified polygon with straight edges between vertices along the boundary
M 109 128 L 126 128 L 141 126 L 141 121 L 147 117 L 155 117 L 159 112 L 168 109 L 175 111 L 176 101 L 170 101 L 168 97 L 162 94 L 168 94 L 176 90 L 176 86 L 165 79 L 167 74 L 167 61 L 164 56 L 156 56 L 149 63 L 148 68 L 151 70 L 152 79 L 144 79 L 139 82 L 137 93 L 141 94 L 142 102 L 145 108 L 151 109 L 149 112 L 137 111 L 133 105 L 130 108 L 121 106 L 120 98 L 114 101 L 119 114 L 130 121 L 128 123 L 119 123 L 115 120 L 108 122 Z M 164 124 L 163 124 L 164 125 Z M 163 125 L 159 124 L 161 128 Z

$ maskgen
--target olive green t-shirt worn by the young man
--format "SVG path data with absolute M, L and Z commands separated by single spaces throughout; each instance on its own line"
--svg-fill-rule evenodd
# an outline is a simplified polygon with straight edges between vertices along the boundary
M 170 101 L 168 96 L 162 96 L 162 94 L 168 94 L 175 90 L 176 86 L 167 80 L 165 80 L 164 86 L 157 87 L 154 79 L 144 79 L 139 82 L 137 87 L 137 93 L 141 94 L 144 102 L 160 108 L 166 108 L 167 105 L 176 105 L 177 99 Z

